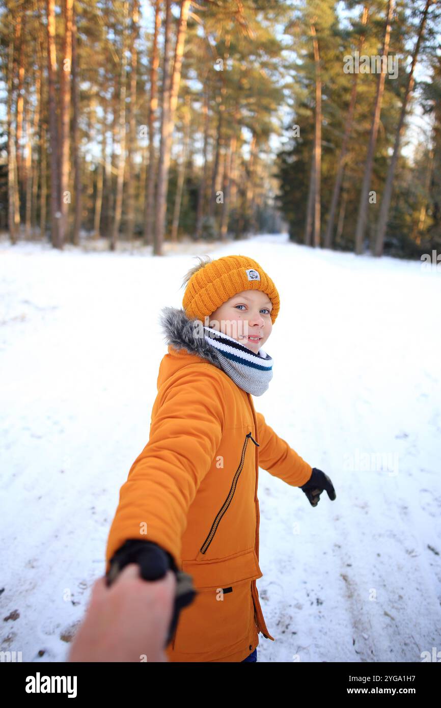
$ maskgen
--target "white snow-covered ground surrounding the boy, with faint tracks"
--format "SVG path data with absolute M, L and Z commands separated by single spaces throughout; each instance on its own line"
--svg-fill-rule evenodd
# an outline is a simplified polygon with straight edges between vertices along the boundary
M 258 661 L 441 650 L 441 272 L 286 236 L 142 253 L 0 244 L 0 650 L 64 661 L 146 445 L 196 253 L 251 256 L 281 307 L 256 409 L 336 488 L 312 508 L 260 470 Z

